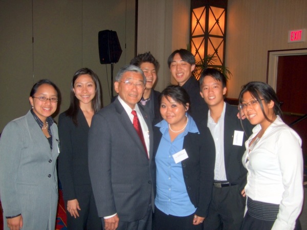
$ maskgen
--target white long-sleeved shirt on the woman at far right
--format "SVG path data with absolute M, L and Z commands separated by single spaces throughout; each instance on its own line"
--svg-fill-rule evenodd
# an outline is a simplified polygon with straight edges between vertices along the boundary
M 260 125 L 255 126 L 245 143 L 246 195 L 253 200 L 279 204 L 272 229 L 294 229 L 303 203 L 301 139 L 277 116 L 258 142 L 249 146 L 260 130 Z

